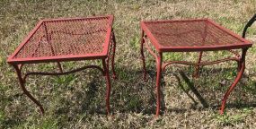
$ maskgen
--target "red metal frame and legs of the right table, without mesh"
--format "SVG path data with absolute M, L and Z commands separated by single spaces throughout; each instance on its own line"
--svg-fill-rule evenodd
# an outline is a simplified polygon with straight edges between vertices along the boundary
M 207 20 L 209 21 L 209 20 Z M 211 21 L 210 21 L 211 22 Z M 212 22 L 214 23 L 214 22 Z M 159 116 L 160 113 L 160 99 L 161 99 L 161 94 L 160 94 L 160 82 L 161 82 L 161 76 L 163 71 L 165 70 L 166 66 L 170 65 L 170 64 L 188 64 L 188 65 L 195 65 L 195 73 L 193 74 L 193 77 L 199 77 L 199 67 L 203 66 L 203 65 L 209 65 L 209 64 L 219 64 L 222 62 L 227 62 L 227 61 L 235 61 L 237 63 L 237 75 L 234 79 L 234 82 L 232 83 L 232 85 L 228 88 L 228 90 L 226 90 L 225 92 L 225 96 L 222 99 L 222 104 L 220 107 L 220 114 L 224 114 L 225 111 L 225 103 L 226 100 L 228 99 L 230 93 L 232 92 L 232 90 L 234 90 L 234 87 L 236 86 L 236 84 L 240 81 L 240 79 L 243 76 L 243 72 L 245 69 L 245 56 L 246 56 L 246 52 L 248 50 L 249 47 L 252 47 L 252 44 L 249 43 L 249 41 L 240 38 L 238 35 L 234 34 L 233 32 L 231 32 L 230 30 L 226 30 L 225 28 L 221 27 L 220 25 L 214 23 L 217 27 L 219 27 L 222 30 L 227 31 L 228 33 L 230 33 L 231 35 L 233 35 L 236 38 L 239 38 L 241 40 L 243 40 L 245 43 L 245 45 L 240 45 L 240 46 L 231 46 L 231 47 L 193 47 L 193 49 L 190 48 L 183 48 L 182 47 L 177 47 L 176 49 L 172 49 L 172 47 L 170 48 L 161 48 L 161 47 L 156 47 L 158 44 L 155 44 L 155 42 L 157 42 L 156 39 L 154 39 L 154 36 L 152 35 L 152 33 L 146 29 L 146 25 L 144 22 L 141 22 L 141 42 L 140 42 L 140 54 L 141 54 L 141 59 L 142 59 L 142 63 L 143 63 L 143 77 L 144 80 L 146 80 L 146 61 L 145 61 L 145 55 L 144 55 L 144 47 L 146 47 L 146 50 L 149 52 L 150 55 L 154 56 L 155 58 L 155 65 L 156 65 L 156 86 L 155 86 L 155 94 L 156 94 L 156 112 L 155 112 L 155 116 Z M 150 39 L 150 42 L 153 43 L 154 48 L 156 49 L 156 53 L 154 52 L 154 50 L 149 46 L 149 44 L 146 42 L 146 39 Z M 222 48 L 220 50 L 229 50 L 232 54 L 234 54 L 234 57 L 228 57 L 228 58 L 224 58 L 224 59 L 219 59 L 216 61 L 212 61 L 212 62 L 201 62 L 201 57 L 203 55 L 203 51 L 214 51 L 214 50 L 218 50 L 219 48 Z M 233 49 L 236 48 L 240 48 L 242 49 L 242 54 L 240 55 L 239 53 L 235 52 Z M 163 63 L 163 53 L 164 52 L 199 52 L 199 59 L 197 63 L 192 63 L 192 62 L 187 62 L 187 61 L 167 61 Z

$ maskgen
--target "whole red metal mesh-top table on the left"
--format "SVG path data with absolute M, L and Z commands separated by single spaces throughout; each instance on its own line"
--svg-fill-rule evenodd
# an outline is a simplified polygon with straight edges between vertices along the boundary
M 106 107 L 110 113 L 110 72 L 109 62 L 113 77 L 114 56 L 116 40 L 112 30 L 113 15 L 89 17 L 89 18 L 67 18 L 50 19 L 40 21 L 31 30 L 22 44 L 9 56 L 7 62 L 12 64 L 23 92 L 40 107 L 43 114 L 44 109 L 40 102 L 31 96 L 25 88 L 27 76 L 32 74 L 40 75 L 64 75 L 75 73 L 87 68 L 95 68 L 102 72 L 106 78 Z M 87 65 L 72 71 L 64 72 L 60 62 L 79 60 L 102 60 L 102 67 L 97 65 Z M 22 77 L 22 66 L 24 64 L 38 64 L 57 62 L 59 73 L 24 73 Z

